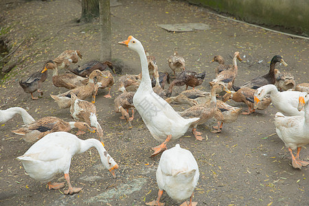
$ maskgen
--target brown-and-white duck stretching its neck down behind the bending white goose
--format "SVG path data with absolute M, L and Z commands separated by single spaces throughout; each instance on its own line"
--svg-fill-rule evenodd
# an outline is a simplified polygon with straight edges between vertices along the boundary
M 97 109 L 95 108 L 95 105 L 91 102 L 78 99 L 78 97 L 74 93 L 71 94 L 70 101 L 70 113 L 73 119 L 75 119 L 76 121 L 84 121 L 90 126 L 97 128 L 98 136 L 102 141 L 103 130 L 97 119 Z M 80 131 L 80 133 L 82 132 Z

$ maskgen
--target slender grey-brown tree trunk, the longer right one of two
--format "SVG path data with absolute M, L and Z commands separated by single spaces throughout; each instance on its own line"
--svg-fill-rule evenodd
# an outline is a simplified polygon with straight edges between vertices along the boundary
M 109 0 L 99 0 L 101 56 L 100 60 L 111 60 L 111 10 Z

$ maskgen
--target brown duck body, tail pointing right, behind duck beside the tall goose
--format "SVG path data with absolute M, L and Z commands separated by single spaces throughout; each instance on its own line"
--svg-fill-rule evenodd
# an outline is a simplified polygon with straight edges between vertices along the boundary
M 217 100 L 217 111 L 214 118 L 218 121 L 218 126 L 213 126 L 214 129 L 211 133 L 220 133 L 223 123 L 235 122 L 240 114 L 242 108 L 233 107 L 229 104 Z

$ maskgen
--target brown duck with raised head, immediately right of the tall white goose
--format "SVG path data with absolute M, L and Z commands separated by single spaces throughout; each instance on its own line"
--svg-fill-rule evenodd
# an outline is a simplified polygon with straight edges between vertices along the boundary
M 217 100 L 216 100 L 216 93 L 222 91 L 222 84 L 212 83 L 211 84 L 211 100 L 209 102 L 204 102 L 203 104 L 198 104 L 196 106 L 192 106 L 187 108 L 185 111 L 181 112 L 181 117 L 199 117 L 198 121 L 192 124 L 193 126 L 193 134 L 196 139 L 202 141 L 204 138 L 201 136 L 201 133 L 196 131 L 196 127 L 200 124 L 204 124 L 207 122 L 208 119 L 214 117 L 217 111 Z M 225 91 L 229 92 L 226 87 L 224 88 Z

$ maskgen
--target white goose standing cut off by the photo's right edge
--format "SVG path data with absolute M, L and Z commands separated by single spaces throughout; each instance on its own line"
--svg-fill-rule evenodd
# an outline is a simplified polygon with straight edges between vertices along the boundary
M 276 113 L 275 126 L 277 135 L 284 141 L 284 144 L 292 156 L 293 168 L 301 169 L 309 162 L 299 160 L 299 152 L 302 146 L 309 144 L 309 95 L 306 92 L 299 95 L 297 109 L 301 111 L 303 107 L 304 116 L 286 117 L 282 113 Z M 297 148 L 297 155 L 294 157 L 292 150 Z

